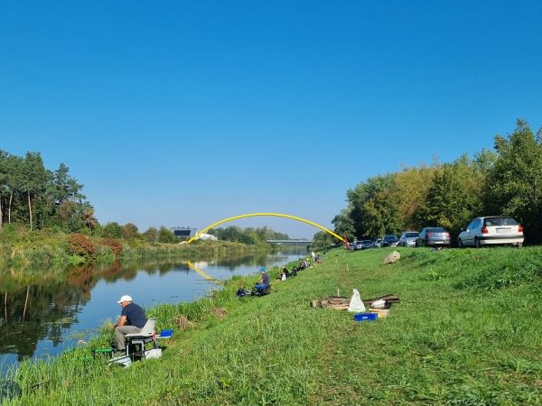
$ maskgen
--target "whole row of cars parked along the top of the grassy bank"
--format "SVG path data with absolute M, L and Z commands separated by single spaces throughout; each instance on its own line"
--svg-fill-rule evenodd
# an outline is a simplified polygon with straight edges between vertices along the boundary
M 523 245 L 523 227 L 512 217 L 491 216 L 476 217 L 468 226 L 462 228 L 457 237 L 457 245 L 475 246 L 486 245 Z M 452 245 L 450 233 L 443 227 L 424 227 L 420 232 L 404 231 L 399 238 L 397 235 L 384 235 L 372 242 L 358 241 L 352 249 L 367 249 L 384 246 L 432 246 L 448 247 Z

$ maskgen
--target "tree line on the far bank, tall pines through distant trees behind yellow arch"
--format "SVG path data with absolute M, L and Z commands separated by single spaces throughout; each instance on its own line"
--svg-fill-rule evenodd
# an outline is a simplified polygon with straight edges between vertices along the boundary
M 94 208 L 82 193 L 83 185 L 61 163 L 57 170 L 45 168 L 40 152 L 17 156 L 0 150 L 0 229 L 24 225 L 30 230 L 60 230 L 104 238 L 175 243 L 179 240 L 165 226 L 150 226 L 140 232 L 133 223 L 113 221 L 100 225 Z M 210 230 L 220 240 L 248 245 L 266 244 L 267 239 L 287 239 L 270 228 L 241 229 L 237 226 Z

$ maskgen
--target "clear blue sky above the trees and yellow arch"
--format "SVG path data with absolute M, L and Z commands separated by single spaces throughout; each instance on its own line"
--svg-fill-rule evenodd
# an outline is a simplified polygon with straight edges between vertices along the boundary
M 0 149 L 66 163 L 101 223 L 332 227 L 370 176 L 537 130 L 540 21 L 538 1 L 5 2 Z

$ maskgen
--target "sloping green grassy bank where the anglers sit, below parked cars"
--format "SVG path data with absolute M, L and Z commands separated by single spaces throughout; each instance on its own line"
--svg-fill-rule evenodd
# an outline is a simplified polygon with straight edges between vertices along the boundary
M 392 265 L 388 249 L 332 251 L 262 298 L 235 298 L 255 276 L 158 306 L 157 328 L 176 329 L 161 359 L 108 367 L 80 348 L 23 364 L 11 404 L 540 404 L 542 250 L 398 251 Z M 352 288 L 401 302 L 363 323 L 309 306 Z

